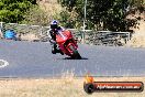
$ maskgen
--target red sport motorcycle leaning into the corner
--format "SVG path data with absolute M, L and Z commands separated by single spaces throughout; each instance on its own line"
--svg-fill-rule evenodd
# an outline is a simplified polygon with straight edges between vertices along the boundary
M 65 30 L 58 34 L 56 34 L 56 42 L 58 44 L 59 50 L 75 60 L 80 60 L 81 56 L 78 53 L 77 41 L 72 37 L 72 34 L 69 30 Z

